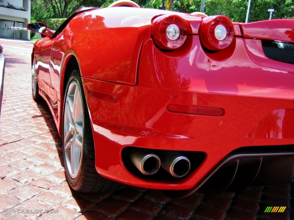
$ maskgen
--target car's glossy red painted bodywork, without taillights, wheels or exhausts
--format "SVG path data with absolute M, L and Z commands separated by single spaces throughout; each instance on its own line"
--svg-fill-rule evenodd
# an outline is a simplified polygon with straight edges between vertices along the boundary
M 177 14 L 191 25 L 181 48 L 166 52 L 154 44 L 151 21 L 161 14 Z M 139 187 L 190 189 L 235 149 L 294 144 L 294 67 L 267 58 L 259 40 L 294 42 L 293 23 L 285 21 L 281 35 L 274 33 L 276 22 L 234 23 L 233 43 L 211 53 L 198 36 L 201 17 L 119 7 L 82 12 L 56 38 L 34 46 L 41 95 L 61 134 L 64 80 L 74 56 L 99 174 Z M 271 31 L 262 29 L 271 24 Z M 175 113 L 167 110 L 169 104 L 218 108 L 223 114 Z M 124 166 L 121 152 L 127 146 L 201 151 L 206 158 L 181 180 L 146 180 Z

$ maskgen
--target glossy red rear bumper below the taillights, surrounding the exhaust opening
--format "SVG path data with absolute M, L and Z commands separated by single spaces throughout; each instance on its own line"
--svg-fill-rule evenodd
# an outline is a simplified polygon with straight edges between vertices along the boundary
M 293 65 L 266 58 L 258 40 L 237 38 L 223 56 L 203 51 L 198 36 L 190 40 L 178 54 L 161 52 L 148 40 L 135 86 L 83 77 L 102 176 L 184 190 L 206 180 L 236 149 L 275 146 L 271 153 L 282 156 L 287 145 L 286 153 L 294 152 Z M 170 104 L 178 111 L 168 109 Z M 127 147 L 204 152 L 205 158 L 186 177 L 163 181 L 132 172 L 125 163 Z M 293 181 L 293 166 L 289 172 Z

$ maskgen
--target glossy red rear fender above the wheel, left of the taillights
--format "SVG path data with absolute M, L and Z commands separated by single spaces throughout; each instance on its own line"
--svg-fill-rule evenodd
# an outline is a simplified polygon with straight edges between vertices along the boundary
M 123 13 L 126 10 L 131 14 Z M 75 49 L 82 76 L 136 84 L 139 54 L 150 39 L 152 18 L 143 19 L 138 13 L 133 8 L 99 9 L 81 13 L 69 23 L 70 46 Z

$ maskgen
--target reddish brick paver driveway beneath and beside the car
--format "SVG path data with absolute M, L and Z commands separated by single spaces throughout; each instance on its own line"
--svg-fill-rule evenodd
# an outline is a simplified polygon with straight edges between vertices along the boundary
M 294 219 L 293 184 L 217 196 L 196 192 L 184 199 L 136 187 L 88 194 L 72 191 L 51 114 L 44 101 L 31 98 L 33 44 L 6 39 L 0 44 L 6 57 L 0 117 L 1 219 Z M 265 213 L 267 206 L 287 208 L 283 213 Z

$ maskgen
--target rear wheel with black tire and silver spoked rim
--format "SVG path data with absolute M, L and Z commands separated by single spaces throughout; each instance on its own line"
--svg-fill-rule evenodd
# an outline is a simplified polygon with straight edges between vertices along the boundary
M 71 109 L 66 109 L 70 107 L 71 104 L 74 103 L 74 97 L 72 97 L 72 90 L 76 87 L 75 91 L 79 92 L 80 100 L 81 100 L 81 111 L 82 116 L 79 120 L 77 118 L 79 116 L 79 110 L 78 107 L 74 108 L 73 111 L 76 109 L 75 119 L 78 122 L 75 122 L 74 127 L 70 127 L 67 120 L 69 120 L 70 116 L 66 115 Z M 75 96 L 77 97 L 75 102 L 79 104 L 78 100 L 78 94 L 75 93 Z M 71 100 L 72 99 L 72 100 Z M 64 167 L 65 167 L 65 173 L 66 178 L 69 182 L 69 185 L 78 192 L 103 192 L 108 190 L 116 190 L 123 188 L 124 185 L 118 182 L 114 182 L 111 180 L 108 180 L 98 174 L 95 168 L 95 149 L 94 149 L 94 142 L 93 142 L 93 133 L 91 128 L 91 123 L 89 119 L 88 109 L 86 106 L 85 101 L 85 94 L 83 91 L 83 86 L 81 82 L 80 73 L 78 70 L 74 70 L 70 77 L 69 81 L 66 86 L 66 92 L 64 96 L 64 108 L 63 108 L 63 135 L 62 135 L 62 141 L 63 141 L 63 153 L 64 153 Z M 78 106 L 77 104 L 77 106 Z M 74 104 L 73 104 L 74 105 Z M 82 126 L 81 126 L 81 119 L 82 119 Z M 67 123 L 67 124 L 66 124 Z M 72 126 L 72 125 L 71 125 Z M 81 128 L 82 127 L 82 128 Z M 73 137 L 71 140 L 69 139 L 71 136 L 72 131 L 70 129 L 73 129 Z M 80 133 L 82 130 L 82 138 L 80 137 Z M 74 137 L 75 136 L 75 137 Z M 74 147 L 73 143 L 74 142 Z M 76 142 L 78 144 L 76 144 Z M 81 144 L 81 153 L 79 158 L 79 165 L 78 168 L 74 165 L 72 165 L 71 162 L 69 162 L 71 158 L 71 151 L 69 156 L 69 147 L 72 149 L 78 148 Z M 75 147 L 78 146 L 78 147 Z M 75 152 L 73 150 L 73 152 Z M 75 157 L 73 157 L 73 161 Z M 76 157 L 78 158 L 78 157 Z M 77 161 L 77 160 L 76 160 Z M 73 169 L 71 168 L 73 167 Z M 75 172 L 75 169 L 77 170 Z

